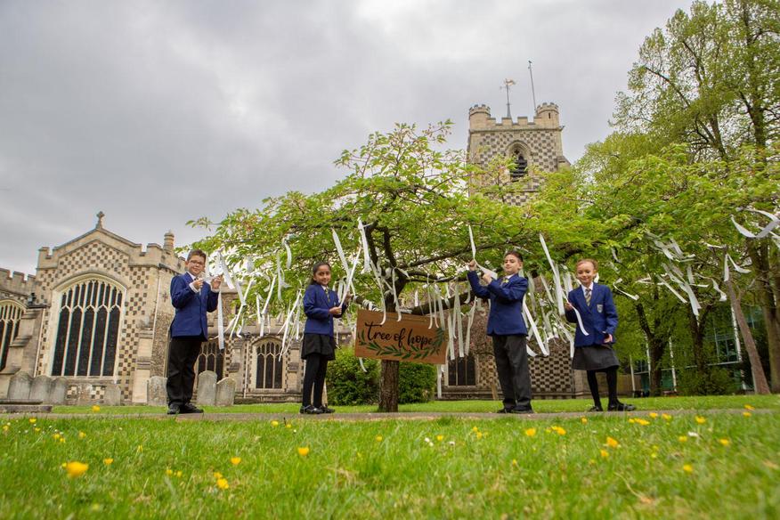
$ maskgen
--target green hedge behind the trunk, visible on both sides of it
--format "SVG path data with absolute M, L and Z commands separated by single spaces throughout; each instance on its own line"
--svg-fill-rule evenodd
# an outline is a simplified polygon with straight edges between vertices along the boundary
M 375 404 L 379 396 L 379 362 L 364 359 L 363 372 L 352 347 L 339 348 L 328 363 L 328 401 L 334 405 Z M 398 402 L 428 402 L 435 396 L 434 365 L 401 363 Z

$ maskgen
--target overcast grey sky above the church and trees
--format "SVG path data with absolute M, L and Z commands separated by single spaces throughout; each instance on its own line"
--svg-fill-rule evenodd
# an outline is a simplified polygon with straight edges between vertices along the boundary
M 289 190 L 395 122 L 556 102 L 572 162 L 609 133 L 638 48 L 689 1 L 0 0 L 0 267 L 105 227 L 176 244 Z

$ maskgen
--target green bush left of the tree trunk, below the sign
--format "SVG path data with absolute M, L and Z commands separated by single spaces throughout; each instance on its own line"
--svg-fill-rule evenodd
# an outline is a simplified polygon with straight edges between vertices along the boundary
M 379 363 L 363 360 L 366 372 L 352 347 L 338 348 L 336 359 L 328 363 L 329 404 L 374 404 L 379 396 Z

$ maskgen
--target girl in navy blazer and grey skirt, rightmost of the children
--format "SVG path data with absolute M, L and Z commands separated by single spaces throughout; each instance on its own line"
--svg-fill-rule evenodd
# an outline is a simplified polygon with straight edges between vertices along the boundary
M 601 399 L 598 396 L 596 372 L 606 373 L 606 386 L 609 391 L 609 411 L 635 410 L 632 404 L 625 404 L 617 398 L 617 369 L 620 366 L 612 347 L 614 330 L 617 328 L 617 309 L 612 300 L 612 291 L 605 285 L 593 281 L 598 272 L 596 260 L 584 258 L 577 262 L 577 280 L 580 288 L 569 293 L 569 301 L 564 306 L 566 320 L 577 322 L 574 309 L 580 312 L 582 325 L 588 331 L 588 336 L 582 334 L 577 327 L 574 336 L 574 370 L 588 371 L 588 386 L 593 396 L 593 407 L 589 411 L 603 411 Z

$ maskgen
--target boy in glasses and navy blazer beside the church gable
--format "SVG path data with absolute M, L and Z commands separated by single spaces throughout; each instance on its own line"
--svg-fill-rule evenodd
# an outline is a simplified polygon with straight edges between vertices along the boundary
M 195 384 L 194 365 L 200 344 L 206 340 L 206 313 L 216 310 L 222 276 L 209 285 L 199 278 L 206 267 L 206 253 L 193 249 L 184 264 L 187 272 L 171 280 L 171 304 L 176 309 L 168 345 L 168 414 L 203 413 L 190 401 Z

